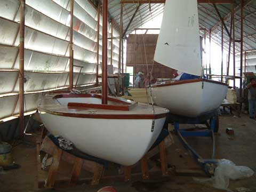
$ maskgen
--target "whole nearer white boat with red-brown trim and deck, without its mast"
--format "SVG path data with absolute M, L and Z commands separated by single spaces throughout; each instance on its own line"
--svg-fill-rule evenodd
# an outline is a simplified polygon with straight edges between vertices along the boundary
M 73 142 L 83 153 L 126 166 L 137 163 L 158 138 L 169 110 L 155 107 L 153 111 L 144 103 L 110 97 L 109 105 L 101 105 L 100 97 L 45 97 L 38 109 L 51 134 Z

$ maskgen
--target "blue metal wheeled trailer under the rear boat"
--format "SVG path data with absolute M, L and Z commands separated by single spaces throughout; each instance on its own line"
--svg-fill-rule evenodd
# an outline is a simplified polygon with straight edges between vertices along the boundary
M 214 133 L 217 133 L 219 130 L 219 118 L 217 111 L 213 111 L 212 113 L 196 117 L 196 118 L 188 118 L 183 116 L 177 116 L 169 114 L 169 118 L 167 120 L 168 123 L 172 123 L 174 125 L 174 131 L 177 133 L 178 138 L 182 142 L 183 146 L 190 151 L 190 153 L 195 158 L 196 162 L 201 166 L 202 170 L 207 175 L 213 175 L 215 167 L 217 167 L 217 159 L 215 159 L 215 137 Z M 181 124 L 205 124 L 207 127 L 200 129 L 188 128 L 188 129 L 180 129 Z M 209 159 L 202 158 L 201 155 L 197 153 L 197 151 L 189 145 L 185 138 L 188 137 L 211 137 L 212 140 L 212 156 Z

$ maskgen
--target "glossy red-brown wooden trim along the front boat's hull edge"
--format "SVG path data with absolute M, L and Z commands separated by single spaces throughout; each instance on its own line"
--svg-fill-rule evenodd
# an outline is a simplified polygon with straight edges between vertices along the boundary
M 77 117 L 77 118 L 97 118 L 97 119 L 159 119 L 166 117 L 167 113 L 164 114 L 77 114 L 77 113 L 66 113 L 58 111 L 50 111 L 39 107 L 39 111 L 49 113 L 52 115 L 59 115 L 65 117 Z

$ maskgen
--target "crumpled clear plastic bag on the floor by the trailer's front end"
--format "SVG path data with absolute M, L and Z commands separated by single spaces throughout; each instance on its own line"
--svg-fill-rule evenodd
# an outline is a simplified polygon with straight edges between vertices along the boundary
M 220 159 L 212 178 L 195 180 L 202 183 L 212 182 L 214 188 L 228 190 L 229 179 L 236 180 L 249 178 L 253 174 L 254 172 L 249 167 L 237 166 L 227 159 Z

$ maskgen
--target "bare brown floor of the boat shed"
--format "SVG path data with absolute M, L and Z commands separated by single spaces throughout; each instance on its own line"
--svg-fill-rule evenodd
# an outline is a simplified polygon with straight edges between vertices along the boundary
M 237 165 L 245 165 L 256 171 L 256 121 L 249 119 L 246 115 L 241 118 L 236 116 L 221 116 L 220 131 L 217 136 L 217 157 L 230 159 Z M 235 136 L 226 134 L 226 128 L 232 127 Z M 194 139 L 191 145 L 195 146 L 199 153 L 208 154 L 209 147 L 202 147 L 204 140 Z M 36 148 L 30 145 L 18 145 L 14 147 L 13 154 L 15 161 L 21 165 L 20 169 L 0 172 L 0 191 L 52 191 L 50 189 L 35 189 L 35 179 L 37 174 Z M 170 175 L 167 179 L 137 181 L 129 183 L 113 183 L 117 191 L 138 192 L 138 191 L 163 191 L 163 192 L 193 192 L 193 191 L 221 191 L 211 186 L 202 185 L 189 176 Z M 105 185 L 106 186 L 106 185 Z M 98 187 L 88 187 L 85 185 L 69 189 L 58 189 L 57 191 L 87 191 L 96 192 Z M 233 191 L 239 191 L 238 188 L 244 187 L 256 191 L 256 176 L 249 179 L 231 181 L 229 188 Z

